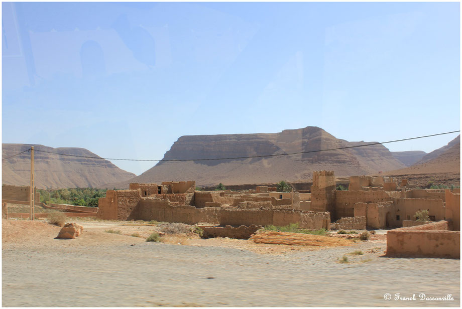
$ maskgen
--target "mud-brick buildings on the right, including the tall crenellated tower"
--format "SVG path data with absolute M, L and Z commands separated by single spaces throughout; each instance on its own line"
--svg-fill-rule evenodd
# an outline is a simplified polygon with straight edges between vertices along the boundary
M 417 211 L 428 210 L 431 221 L 449 220 L 460 229 L 460 189 L 409 190 L 406 184 L 392 177 L 352 176 L 349 190 L 339 191 L 333 171 L 313 172 L 311 201 L 300 204 L 304 210 L 328 211 L 332 221 L 365 217 L 366 226 L 376 229 L 402 227 Z

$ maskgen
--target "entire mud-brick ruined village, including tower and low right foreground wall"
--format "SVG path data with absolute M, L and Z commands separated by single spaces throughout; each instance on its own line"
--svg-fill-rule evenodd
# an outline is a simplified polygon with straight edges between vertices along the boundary
M 216 233 L 291 223 L 326 230 L 396 228 L 387 234 L 389 254 L 459 257 L 454 247 L 460 247 L 460 189 L 406 186 L 406 180 L 398 183 L 391 177 L 353 176 L 348 191 L 336 190 L 333 171 L 314 172 L 308 193 L 276 192 L 266 186 L 196 191 L 194 181 L 130 184 L 129 190 L 108 190 L 99 199 L 97 217 L 225 227 Z M 435 224 L 416 221 L 421 210 L 427 210 Z

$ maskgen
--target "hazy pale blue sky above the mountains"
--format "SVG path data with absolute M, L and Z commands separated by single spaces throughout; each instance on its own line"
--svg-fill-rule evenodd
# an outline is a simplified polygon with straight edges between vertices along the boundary
M 459 3 L 2 6 L 4 143 L 162 159 L 181 135 L 460 128 Z M 386 146 L 429 152 L 456 135 Z

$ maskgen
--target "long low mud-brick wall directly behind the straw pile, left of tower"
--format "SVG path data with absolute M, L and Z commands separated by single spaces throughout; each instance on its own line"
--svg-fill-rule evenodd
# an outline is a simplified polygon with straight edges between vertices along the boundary
M 314 213 L 297 210 L 270 210 L 270 209 L 221 209 L 219 214 L 220 225 L 277 225 L 284 226 L 299 223 L 301 228 L 320 229 L 330 228 L 330 215 L 327 212 Z M 327 225 L 327 222 L 329 223 Z

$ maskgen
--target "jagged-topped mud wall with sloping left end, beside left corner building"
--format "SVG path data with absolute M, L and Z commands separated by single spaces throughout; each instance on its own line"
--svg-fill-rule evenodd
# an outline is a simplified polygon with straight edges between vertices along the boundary
M 189 205 L 171 205 L 168 200 L 147 197 L 140 200 L 128 220 L 156 220 L 186 224 L 218 223 L 220 208 L 195 208 Z

